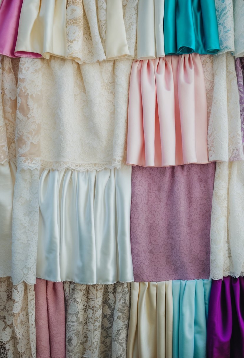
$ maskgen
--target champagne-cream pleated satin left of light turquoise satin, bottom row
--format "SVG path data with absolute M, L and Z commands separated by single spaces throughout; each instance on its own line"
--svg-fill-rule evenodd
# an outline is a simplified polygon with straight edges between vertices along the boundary
M 127 358 L 172 358 L 172 281 L 132 282 Z

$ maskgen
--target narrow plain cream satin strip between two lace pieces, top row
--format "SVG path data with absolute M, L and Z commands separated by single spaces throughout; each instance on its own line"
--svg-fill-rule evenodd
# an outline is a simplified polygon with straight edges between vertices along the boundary
M 107 0 L 106 59 L 112 60 L 130 55 L 122 0 Z

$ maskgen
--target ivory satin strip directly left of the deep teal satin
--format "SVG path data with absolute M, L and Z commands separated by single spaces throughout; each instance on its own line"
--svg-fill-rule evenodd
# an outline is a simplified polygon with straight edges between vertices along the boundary
M 138 0 L 137 59 L 164 55 L 164 0 Z

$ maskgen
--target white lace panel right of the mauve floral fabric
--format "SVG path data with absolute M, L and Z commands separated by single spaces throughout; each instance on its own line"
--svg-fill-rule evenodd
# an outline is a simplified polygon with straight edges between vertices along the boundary
M 211 273 L 244 276 L 244 161 L 217 163 L 211 212 Z

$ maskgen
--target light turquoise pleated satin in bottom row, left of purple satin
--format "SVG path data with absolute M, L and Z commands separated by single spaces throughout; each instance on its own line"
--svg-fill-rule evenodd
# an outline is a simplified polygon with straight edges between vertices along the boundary
M 174 358 L 206 358 L 210 290 L 210 280 L 172 281 Z

